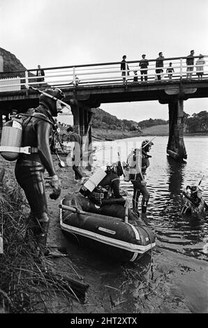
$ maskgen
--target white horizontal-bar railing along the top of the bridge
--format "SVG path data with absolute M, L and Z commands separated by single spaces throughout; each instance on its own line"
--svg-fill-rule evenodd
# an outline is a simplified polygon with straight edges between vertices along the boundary
M 45 76 L 36 76 L 36 69 L 8 72 L 8 75 L 15 75 L 8 79 L 5 77 L 6 72 L 0 73 L 0 91 L 15 91 L 28 88 L 29 85 L 34 87 L 61 87 L 76 88 L 99 86 L 103 84 L 131 84 L 131 83 L 152 83 L 152 82 L 174 82 L 177 80 L 186 80 L 187 77 L 192 80 L 208 79 L 208 64 L 196 65 L 198 56 L 195 56 L 193 66 L 186 65 L 186 57 L 165 58 L 163 67 L 156 67 L 156 59 L 149 59 L 148 68 L 140 68 L 140 61 L 128 61 L 126 70 L 121 70 L 120 62 L 85 64 L 77 66 L 61 66 L 53 68 L 43 68 Z M 172 63 L 172 72 L 167 69 Z M 189 71 L 187 72 L 187 67 Z M 158 71 L 162 70 L 162 71 Z M 135 71 L 137 72 L 135 75 Z M 147 74 L 145 74 L 147 71 Z M 144 74 L 142 74 L 144 72 Z M 187 75 L 188 74 L 188 75 Z M 199 75 L 201 74 L 201 75 Z M 135 81 L 137 77 L 138 81 Z M 160 78 L 161 80 L 158 80 Z M 143 80 L 143 81 L 142 81 Z

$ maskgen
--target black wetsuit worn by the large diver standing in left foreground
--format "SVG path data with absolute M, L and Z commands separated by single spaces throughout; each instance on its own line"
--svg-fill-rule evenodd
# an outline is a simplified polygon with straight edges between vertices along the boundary
M 15 177 L 31 207 L 30 229 L 43 247 L 47 240 L 50 219 L 47 215 L 47 200 L 43 173 L 50 177 L 56 174 L 50 153 L 52 117 L 44 105 L 39 105 L 34 117 L 26 117 L 22 128 L 22 147 L 34 147 L 34 154 L 21 154 L 15 166 Z M 42 238 L 42 239 L 41 239 Z

